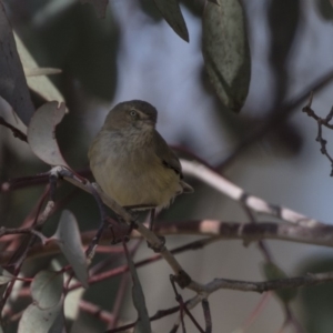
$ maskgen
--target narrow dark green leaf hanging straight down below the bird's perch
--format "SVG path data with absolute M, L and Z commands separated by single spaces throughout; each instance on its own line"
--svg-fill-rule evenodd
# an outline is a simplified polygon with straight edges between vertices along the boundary
M 149 314 L 145 306 L 145 297 L 142 291 L 142 286 L 138 276 L 135 265 L 131 256 L 129 255 L 127 248 L 125 248 L 125 254 L 127 254 L 128 265 L 133 281 L 132 299 L 138 312 L 138 321 L 134 327 L 134 333 L 143 333 L 143 332 L 151 333 Z

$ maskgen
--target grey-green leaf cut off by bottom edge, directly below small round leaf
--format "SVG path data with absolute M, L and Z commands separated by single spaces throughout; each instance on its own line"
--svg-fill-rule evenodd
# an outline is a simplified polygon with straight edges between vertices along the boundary
M 62 313 L 62 301 L 56 306 L 41 310 L 30 304 L 23 312 L 18 333 L 46 333 L 53 326 L 54 321 Z

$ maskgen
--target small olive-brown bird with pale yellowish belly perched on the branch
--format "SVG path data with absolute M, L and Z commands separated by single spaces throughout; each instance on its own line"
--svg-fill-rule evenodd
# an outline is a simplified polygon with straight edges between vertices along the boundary
M 132 210 L 164 208 L 193 192 L 178 157 L 155 130 L 157 109 L 133 100 L 117 104 L 89 149 L 90 169 L 104 193 Z

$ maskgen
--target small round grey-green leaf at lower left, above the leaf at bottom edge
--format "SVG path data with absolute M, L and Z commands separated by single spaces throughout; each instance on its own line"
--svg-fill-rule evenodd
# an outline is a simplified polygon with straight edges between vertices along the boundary
M 63 275 L 52 271 L 40 271 L 31 283 L 34 305 L 41 310 L 56 306 L 62 295 Z

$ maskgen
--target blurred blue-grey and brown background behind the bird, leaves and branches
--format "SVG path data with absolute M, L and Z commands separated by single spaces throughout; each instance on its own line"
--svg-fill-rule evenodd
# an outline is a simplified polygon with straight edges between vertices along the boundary
M 41 67 L 62 69 L 51 77 L 70 110 L 57 128 L 61 151 L 75 170 L 88 168 L 87 151 L 93 135 L 115 103 L 142 99 L 159 110 L 158 130 L 170 144 L 181 145 L 214 167 L 246 192 L 268 202 L 331 223 L 332 179 L 330 162 L 315 142 L 316 123 L 302 113 L 301 99 L 285 120 L 276 121 L 255 140 L 251 134 L 269 123 L 291 101 L 333 69 L 333 7 L 329 0 L 243 1 L 252 56 L 249 97 L 240 114 L 232 114 L 218 100 L 204 71 L 201 53 L 201 17 L 204 2 L 181 1 L 190 43 L 181 40 L 162 19 L 152 0 L 112 0 L 99 19 L 92 6 L 77 0 L 4 1 L 13 29 Z M 325 117 L 333 104 L 333 81 L 314 91 L 313 109 Z M 41 101 L 34 95 L 36 105 Z M 14 123 L 10 113 L 0 114 Z M 279 117 L 278 117 L 279 119 Z M 4 128 L 0 132 L 1 183 L 48 170 L 23 142 Z M 324 132 L 333 151 L 332 132 Z M 248 149 L 234 154 L 242 142 Z M 232 158 L 231 158 L 232 157 Z M 229 163 L 224 163 L 229 161 Z M 223 167 L 223 168 L 222 168 Z M 214 190 L 189 180 L 191 198 L 179 198 L 161 220 L 219 219 L 249 222 L 240 206 Z M 43 186 L 1 193 L 0 216 L 4 225 L 20 225 L 36 204 Z M 63 198 L 72 188 L 62 185 Z M 65 205 L 82 230 L 98 224 L 92 198 L 75 193 Z M 46 226 L 52 234 L 56 214 Z M 264 219 L 268 221 L 268 219 Z M 170 236 L 170 248 L 190 236 Z M 290 275 L 333 270 L 333 252 L 320 246 L 269 241 L 275 262 Z M 145 244 L 135 260 L 151 255 Z M 196 281 L 214 278 L 261 281 L 263 256 L 256 244 L 221 241 L 204 250 L 179 255 Z M 39 265 L 46 264 L 43 262 Z M 33 272 L 33 268 L 31 273 Z M 169 282 L 170 269 L 159 262 L 139 270 L 150 314 L 175 305 Z M 105 281 L 84 297 L 112 309 L 119 280 Z M 109 293 L 108 293 L 109 291 Z M 333 326 L 333 287 L 330 284 L 299 292 L 292 309 L 303 330 L 325 333 Z M 183 292 L 184 299 L 192 296 Z M 262 295 L 220 291 L 210 297 L 213 332 L 244 332 L 242 325 Z M 122 321 L 135 319 L 130 287 L 121 311 Z M 202 321 L 202 309 L 193 311 Z M 169 332 L 175 316 L 153 323 L 154 332 Z M 284 313 L 272 296 L 246 332 L 282 332 Z M 189 332 L 195 332 L 188 322 Z M 236 331 L 239 329 L 239 331 Z M 14 329 L 13 329 L 14 330 Z M 71 332 L 101 332 L 103 325 L 87 314 Z M 14 332 L 14 331 L 12 331 Z M 283 332 L 296 332 L 290 327 Z

